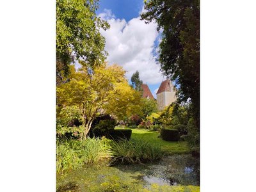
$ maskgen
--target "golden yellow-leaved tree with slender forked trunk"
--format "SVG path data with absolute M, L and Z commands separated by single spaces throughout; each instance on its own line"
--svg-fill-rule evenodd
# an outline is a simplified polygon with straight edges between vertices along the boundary
M 88 72 L 85 67 L 72 70 L 70 81 L 57 87 L 58 108 L 76 106 L 81 110 L 81 139 L 86 138 L 92 122 L 102 113 L 122 118 L 140 113 L 140 93 L 129 86 L 125 71 L 106 63 Z

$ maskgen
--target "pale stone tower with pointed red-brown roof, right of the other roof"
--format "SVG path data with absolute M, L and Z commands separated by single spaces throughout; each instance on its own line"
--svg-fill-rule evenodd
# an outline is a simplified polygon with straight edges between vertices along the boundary
M 172 81 L 166 79 L 161 83 L 156 93 L 157 107 L 162 111 L 166 106 L 169 106 L 172 102 L 175 102 L 175 90 Z

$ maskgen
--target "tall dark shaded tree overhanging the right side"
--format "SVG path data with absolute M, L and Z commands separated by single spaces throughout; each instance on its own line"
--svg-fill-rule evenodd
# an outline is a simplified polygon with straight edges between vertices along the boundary
M 141 18 L 161 30 L 159 58 L 164 75 L 179 85 L 178 101 L 191 99 L 200 125 L 200 4 L 199 0 L 149 0 Z

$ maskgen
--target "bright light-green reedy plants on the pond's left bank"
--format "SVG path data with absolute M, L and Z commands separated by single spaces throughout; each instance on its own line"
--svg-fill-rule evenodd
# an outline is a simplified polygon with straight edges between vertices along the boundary
M 111 157 L 108 140 L 87 138 L 83 141 L 58 141 L 56 148 L 56 172 L 81 168 L 86 163 L 97 163 Z

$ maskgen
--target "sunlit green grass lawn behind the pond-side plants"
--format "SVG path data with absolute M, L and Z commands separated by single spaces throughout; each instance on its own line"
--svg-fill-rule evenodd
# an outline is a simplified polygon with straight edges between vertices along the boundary
M 116 127 L 116 129 L 122 129 L 121 127 Z M 125 127 L 124 129 L 130 129 Z M 131 138 L 147 140 L 152 145 L 160 145 L 161 149 L 168 154 L 188 154 L 190 152 L 186 141 L 164 141 L 159 136 L 157 131 L 149 131 L 146 129 L 131 129 Z

